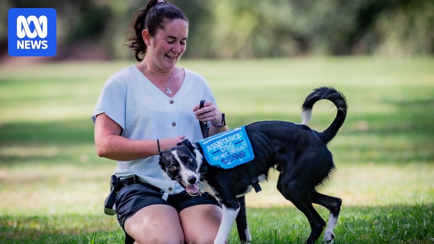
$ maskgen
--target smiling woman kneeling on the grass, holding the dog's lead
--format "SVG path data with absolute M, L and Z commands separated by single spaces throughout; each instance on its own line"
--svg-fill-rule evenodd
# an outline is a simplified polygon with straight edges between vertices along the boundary
M 210 123 L 209 135 L 228 130 L 224 114 L 204 78 L 176 66 L 188 37 L 182 11 L 151 0 L 136 16 L 130 48 L 139 62 L 107 80 L 92 116 L 98 155 L 117 160 L 123 187 L 115 206 L 125 243 L 211 243 L 221 207 L 171 181 L 158 153 L 184 138 L 202 139 L 198 120 Z

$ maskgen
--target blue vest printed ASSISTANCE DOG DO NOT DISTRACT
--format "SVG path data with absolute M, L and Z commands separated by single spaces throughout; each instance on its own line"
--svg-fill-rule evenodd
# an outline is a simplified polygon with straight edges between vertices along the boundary
M 255 156 L 245 127 L 241 126 L 198 141 L 205 159 L 211 166 L 231 169 L 253 160 Z

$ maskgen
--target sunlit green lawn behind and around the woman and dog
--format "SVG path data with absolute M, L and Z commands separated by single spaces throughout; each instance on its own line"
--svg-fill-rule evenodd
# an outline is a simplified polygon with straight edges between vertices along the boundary
M 0 67 L 0 243 L 121 243 L 103 213 L 113 161 L 99 158 L 90 115 L 106 78 L 127 62 Z M 348 99 L 329 143 L 337 171 L 322 192 L 343 199 L 335 243 L 434 243 L 434 59 L 373 57 L 183 60 L 201 73 L 230 127 L 300 122 L 314 88 Z M 326 101 L 310 126 L 335 116 Z M 306 218 L 275 190 L 247 195 L 253 243 L 301 243 Z M 317 208 L 327 219 L 327 211 Z M 237 243 L 235 229 L 230 243 Z

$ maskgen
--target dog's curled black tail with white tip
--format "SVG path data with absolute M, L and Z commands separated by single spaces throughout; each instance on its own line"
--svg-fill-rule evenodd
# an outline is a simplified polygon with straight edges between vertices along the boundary
M 342 93 L 336 91 L 336 89 L 331 87 L 322 87 L 315 89 L 311 94 L 309 94 L 305 102 L 303 103 L 302 118 L 303 122 L 301 124 L 306 125 L 312 116 L 312 108 L 316 102 L 319 100 L 327 99 L 330 100 L 337 108 L 337 114 L 331 125 L 325 129 L 323 132 L 319 133 L 319 137 L 324 143 L 329 142 L 336 135 L 339 128 L 342 126 L 346 117 L 346 99 Z

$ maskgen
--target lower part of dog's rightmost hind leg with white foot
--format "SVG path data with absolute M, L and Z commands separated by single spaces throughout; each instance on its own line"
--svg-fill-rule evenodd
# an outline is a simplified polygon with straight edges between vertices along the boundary
M 330 211 L 330 216 L 327 222 L 327 228 L 324 233 L 324 242 L 333 243 L 334 233 L 333 229 L 336 225 L 337 218 L 339 216 L 340 206 L 342 199 L 332 196 L 327 196 L 318 192 L 311 194 L 312 203 L 324 206 Z

